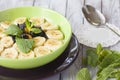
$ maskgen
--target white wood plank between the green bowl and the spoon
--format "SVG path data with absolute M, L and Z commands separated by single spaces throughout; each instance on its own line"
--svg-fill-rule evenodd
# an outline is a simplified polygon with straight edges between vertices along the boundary
M 83 17 L 81 7 L 83 6 L 83 0 L 68 0 L 66 9 L 66 18 L 69 20 L 72 31 L 77 32 L 76 29 L 83 23 Z

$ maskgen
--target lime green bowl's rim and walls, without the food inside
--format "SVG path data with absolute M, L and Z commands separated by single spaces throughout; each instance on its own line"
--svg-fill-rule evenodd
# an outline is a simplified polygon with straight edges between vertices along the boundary
M 71 26 L 67 19 L 59 13 L 41 7 L 18 7 L 0 11 L 0 21 L 12 21 L 18 17 L 34 16 L 45 17 L 48 21 L 52 22 L 53 24 L 59 25 L 64 34 L 63 45 L 54 52 L 42 57 L 35 57 L 23 60 L 0 57 L 0 66 L 12 69 L 29 69 L 39 67 L 55 60 L 57 57 L 59 57 L 59 55 L 62 54 L 62 52 L 68 46 L 72 35 Z

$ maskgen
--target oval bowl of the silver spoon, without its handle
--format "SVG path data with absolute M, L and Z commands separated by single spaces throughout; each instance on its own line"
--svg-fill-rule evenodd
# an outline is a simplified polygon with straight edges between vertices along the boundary
M 82 7 L 82 11 L 84 13 L 87 21 L 93 25 L 100 26 L 106 23 L 106 19 L 103 14 L 94 7 L 90 5 L 85 5 Z

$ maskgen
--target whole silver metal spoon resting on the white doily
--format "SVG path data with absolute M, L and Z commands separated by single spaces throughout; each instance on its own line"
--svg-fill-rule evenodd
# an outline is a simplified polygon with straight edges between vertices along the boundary
M 95 25 L 97 28 L 100 27 L 100 25 L 105 25 L 120 37 L 119 28 L 107 23 L 104 15 L 99 10 L 95 9 L 91 5 L 85 5 L 82 7 L 82 11 L 89 23 Z

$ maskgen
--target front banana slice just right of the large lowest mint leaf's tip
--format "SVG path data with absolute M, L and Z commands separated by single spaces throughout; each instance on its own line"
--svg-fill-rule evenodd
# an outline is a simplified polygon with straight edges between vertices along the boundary
M 47 47 L 45 46 L 39 46 L 39 47 L 36 47 L 34 49 L 34 53 L 35 53 L 35 56 L 36 57 L 39 57 L 39 56 L 44 56 L 46 54 L 49 54 L 51 52 L 50 49 L 48 49 Z

